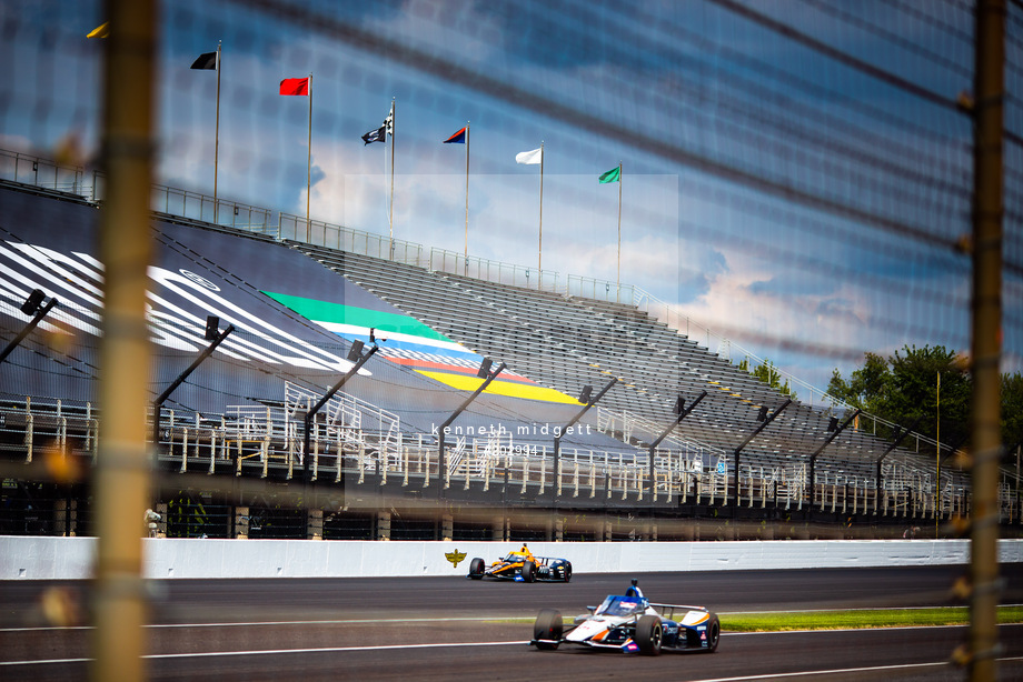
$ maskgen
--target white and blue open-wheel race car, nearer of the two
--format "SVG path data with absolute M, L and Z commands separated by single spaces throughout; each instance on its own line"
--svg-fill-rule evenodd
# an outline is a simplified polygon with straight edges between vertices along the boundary
M 582 644 L 626 653 L 657 655 L 662 650 L 717 651 L 721 622 L 704 606 L 652 604 L 635 580 L 625 594 L 609 594 L 589 613 L 565 628 L 562 614 L 544 609 L 533 624 L 537 649 L 553 650 L 559 644 Z

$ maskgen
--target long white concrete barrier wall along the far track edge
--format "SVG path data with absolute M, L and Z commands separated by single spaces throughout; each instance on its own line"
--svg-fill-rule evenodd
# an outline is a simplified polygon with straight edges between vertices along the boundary
M 357 578 L 465 575 L 512 542 L 358 542 L 145 539 L 147 578 Z M 731 571 L 962 564 L 967 540 L 784 540 L 751 542 L 530 542 L 538 556 L 572 561 L 574 573 Z M 1002 540 L 1002 563 L 1023 562 L 1023 540 Z M 90 575 L 95 538 L 0 536 L 0 580 Z M 454 565 L 448 553 L 464 553 Z

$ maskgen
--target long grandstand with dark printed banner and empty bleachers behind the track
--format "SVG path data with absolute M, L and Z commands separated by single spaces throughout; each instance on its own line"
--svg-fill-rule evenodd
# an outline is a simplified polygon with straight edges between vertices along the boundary
M 97 452 L 96 184 L 63 174 L 71 187 L 0 188 L 4 338 L 28 320 L 19 304 L 31 289 L 63 302 L 0 364 L 8 462 L 88 465 Z M 789 401 L 632 301 L 607 300 L 620 290 L 468 277 L 418 244 L 381 258 L 376 235 L 359 248 L 355 231 L 322 225 L 338 244 L 346 235 L 331 248 L 308 231 L 282 235 L 285 215 L 275 230 L 269 210 L 245 207 L 256 220 L 244 223 L 227 203 L 213 222 L 209 198 L 197 215 L 171 195 L 186 193 L 155 188 L 152 394 L 206 345 L 207 315 L 236 331 L 152 424 L 153 504 L 169 535 L 693 538 L 711 519 L 716 535 L 727 520 L 728 536 L 884 536 L 969 513 L 950 451 L 938 472 L 933 442 L 891 442 L 868 415 Z M 356 341 L 377 357 L 307 441 L 306 410 L 350 367 Z M 437 428 L 481 381 L 483 358 L 507 370 L 451 422 L 441 458 Z M 584 408 L 574 397 L 606 385 L 556 451 Z M 693 408 L 681 421 L 679 398 Z M 1019 525 L 1003 489 L 1003 522 Z M 8 478 L 4 497 L 4 533 L 89 532 L 83 485 Z M 756 531 L 735 530 L 744 522 Z

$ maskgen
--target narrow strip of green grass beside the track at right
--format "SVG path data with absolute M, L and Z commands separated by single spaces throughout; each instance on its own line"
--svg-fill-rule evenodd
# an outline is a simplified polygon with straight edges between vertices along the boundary
M 721 629 L 725 632 L 778 632 L 784 630 L 965 625 L 970 622 L 970 612 L 963 606 L 725 613 L 719 618 Z M 999 606 L 999 622 L 1023 623 L 1023 606 Z

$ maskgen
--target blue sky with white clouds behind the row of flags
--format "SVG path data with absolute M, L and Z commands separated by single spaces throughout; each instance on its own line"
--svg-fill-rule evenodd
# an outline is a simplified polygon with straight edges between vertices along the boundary
M 969 349 L 973 21 L 960 2 L 165 2 L 159 182 L 597 280 L 676 308 L 711 350 L 824 388 L 864 351 Z M 1023 21 L 1010 18 L 1017 88 Z M 0 4 L 0 149 L 95 160 L 103 21 L 92 0 Z M 787 27 L 787 28 L 786 28 Z M 115 27 L 116 30 L 116 27 Z M 1006 124 L 1020 132 L 1010 100 Z M 466 148 L 443 144 L 470 124 Z M 543 251 L 539 167 L 545 150 Z M 623 166 L 618 189 L 600 173 Z M 1006 149 L 1003 369 L 1023 369 L 1020 149 Z M 275 220 L 276 222 L 276 220 Z M 578 281 L 578 280 L 575 280 Z M 530 282 L 535 282 L 530 280 Z M 637 294 L 638 295 L 638 294 Z M 709 332 L 707 330 L 711 330 Z M 731 340 L 723 343 L 722 337 Z M 805 389 L 797 389 L 808 398 Z

